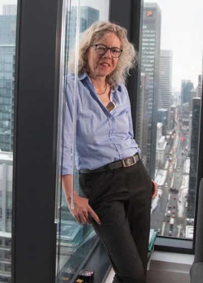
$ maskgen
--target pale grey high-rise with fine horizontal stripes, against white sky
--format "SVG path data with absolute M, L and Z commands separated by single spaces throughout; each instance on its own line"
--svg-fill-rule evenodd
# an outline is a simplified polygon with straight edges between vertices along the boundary
M 170 130 L 170 113 L 172 100 L 172 62 L 173 51 L 161 50 L 159 70 L 159 109 L 167 109 L 167 130 Z

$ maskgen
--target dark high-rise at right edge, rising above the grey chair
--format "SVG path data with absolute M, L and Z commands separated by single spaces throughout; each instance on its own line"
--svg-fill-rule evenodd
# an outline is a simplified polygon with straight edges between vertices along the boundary
M 189 218 L 194 218 L 194 210 L 195 210 L 200 114 L 201 114 L 201 99 L 193 98 L 192 133 L 191 133 L 191 147 L 190 147 L 190 174 L 189 174 L 188 209 L 187 209 L 187 217 Z

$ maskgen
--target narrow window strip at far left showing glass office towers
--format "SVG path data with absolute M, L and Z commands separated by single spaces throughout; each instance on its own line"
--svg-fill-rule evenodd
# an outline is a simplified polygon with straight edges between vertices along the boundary
M 14 79 L 17 5 L 0 4 L 0 282 L 11 282 Z M 17 1 L 16 1 L 17 3 Z

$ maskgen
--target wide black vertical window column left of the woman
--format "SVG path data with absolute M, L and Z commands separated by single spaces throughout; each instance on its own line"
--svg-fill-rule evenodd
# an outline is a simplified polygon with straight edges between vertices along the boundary
M 62 0 L 52 0 L 48 6 L 47 0 L 18 0 L 14 83 L 13 283 L 55 282 L 54 212 L 61 15 Z

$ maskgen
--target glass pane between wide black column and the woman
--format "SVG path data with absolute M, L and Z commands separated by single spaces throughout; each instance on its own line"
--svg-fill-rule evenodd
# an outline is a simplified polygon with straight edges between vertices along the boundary
M 74 26 L 74 29 L 71 32 L 70 29 L 70 36 L 69 41 L 67 42 L 69 51 L 75 45 L 76 42 L 76 23 L 77 23 L 77 7 L 71 7 L 71 14 L 70 14 L 70 7 L 68 7 L 67 15 L 70 16 L 70 28 Z M 81 0 L 81 7 L 80 7 L 80 33 L 83 33 L 85 29 L 87 29 L 93 22 L 98 20 L 106 20 L 108 21 L 109 16 L 109 0 L 104 0 L 101 2 L 99 1 L 92 1 L 89 0 Z M 67 33 L 68 35 L 68 33 Z M 67 41 L 67 39 L 66 39 Z M 67 51 L 67 50 L 65 50 Z M 67 62 L 62 64 L 66 66 Z M 67 73 L 67 70 L 63 72 Z M 60 133 L 58 133 L 60 135 Z M 76 170 L 75 176 L 75 185 L 76 190 L 79 196 L 82 196 L 82 192 L 79 187 L 78 183 L 79 179 L 79 172 Z M 60 183 L 58 185 L 60 187 Z M 61 196 L 61 205 L 60 205 L 60 196 Z M 59 193 L 59 213 L 61 218 L 58 219 L 58 226 L 57 226 L 57 253 L 58 253 L 58 263 L 63 260 L 63 267 L 56 270 L 56 274 L 58 274 L 58 279 L 60 278 L 61 274 L 67 274 L 67 277 L 72 278 L 74 273 L 77 271 L 79 266 L 81 265 L 82 261 L 87 256 L 90 248 L 94 245 L 97 241 L 97 237 L 95 237 L 95 232 L 92 226 L 88 225 L 79 225 L 76 222 L 76 219 L 70 213 L 69 208 L 67 207 L 65 196 L 63 191 L 61 194 Z M 61 225 L 61 230 L 59 231 Z M 65 231 L 66 227 L 69 226 L 70 229 L 75 229 L 75 239 L 71 238 L 69 241 L 67 237 L 70 235 L 68 231 Z M 62 232 L 64 230 L 65 232 Z M 70 237 L 70 236 L 69 236 Z

